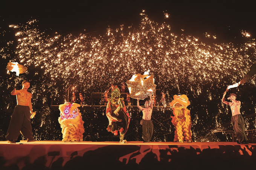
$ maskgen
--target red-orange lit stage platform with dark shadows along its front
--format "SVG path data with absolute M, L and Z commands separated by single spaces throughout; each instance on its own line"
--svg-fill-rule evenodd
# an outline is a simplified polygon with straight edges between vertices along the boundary
M 1 170 L 255 169 L 256 144 L 0 141 Z

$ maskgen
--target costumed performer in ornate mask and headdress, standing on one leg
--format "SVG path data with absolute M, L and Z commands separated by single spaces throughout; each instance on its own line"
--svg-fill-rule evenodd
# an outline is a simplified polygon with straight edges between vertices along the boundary
M 120 143 L 127 143 L 124 139 L 130 124 L 130 115 L 126 112 L 123 98 L 120 98 L 120 90 L 117 86 L 112 88 L 111 98 L 108 99 L 106 115 L 109 121 L 107 130 L 115 136 L 120 133 Z

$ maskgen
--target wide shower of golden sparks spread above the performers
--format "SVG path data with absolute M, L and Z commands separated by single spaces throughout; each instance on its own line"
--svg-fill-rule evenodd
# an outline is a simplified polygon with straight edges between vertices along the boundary
M 10 62 L 28 67 L 26 74 L 34 73 L 32 76 L 38 78 L 32 93 L 41 88 L 52 95 L 64 94 L 71 84 L 84 93 L 90 88 L 104 92 L 110 84 L 121 84 L 134 74 L 150 70 L 157 87 L 168 96 L 186 94 L 191 99 L 195 141 L 203 141 L 200 134 L 207 129 L 223 130 L 220 125 L 230 121 L 230 115 L 223 116 L 227 109 L 219 96 L 256 63 L 255 39 L 249 39 L 250 34 L 242 31 L 248 41 L 241 46 L 206 44 L 193 36 L 175 35 L 170 25 L 158 24 L 145 13 L 140 15 L 138 30 L 129 32 L 123 25 L 116 29 L 108 27 L 106 34 L 99 37 L 58 33 L 49 36 L 37 28 L 36 20 L 27 25 L 10 25 L 18 39 Z M 1 53 L 8 58 L 5 52 Z M 8 81 L 20 82 L 22 78 L 11 76 Z M 255 88 L 255 77 L 248 84 Z M 40 95 L 36 93 L 33 97 Z M 42 100 L 46 102 L 45 94 Z

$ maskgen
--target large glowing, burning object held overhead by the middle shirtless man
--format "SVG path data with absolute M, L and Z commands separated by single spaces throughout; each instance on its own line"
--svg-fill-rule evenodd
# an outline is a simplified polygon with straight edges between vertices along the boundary
M 149 76 L 148 74 L 149 70 L 145 72 L 144 75 L 133 75 L 131 80 L 126 82 L 132 98 L 144 100 L 150 94 L 155 93 L 156 85 L 154 84 L 154 78 L 152 75 Z

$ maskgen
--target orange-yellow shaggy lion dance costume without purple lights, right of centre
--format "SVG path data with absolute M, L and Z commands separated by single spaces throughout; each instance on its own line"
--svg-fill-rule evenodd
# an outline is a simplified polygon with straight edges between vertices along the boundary
M 175 126 L 174 142 L 183 143 L 184 138 L 186 142 L 192 142 L 191 137 L 191 117 L 190 110 L 187 106 L 190 104 L 189 99 L 185 94 L 174 95 L 174 100 L 170 103 L 174 116 L 172 118 L 172 124 Z

